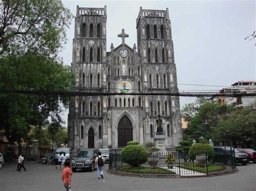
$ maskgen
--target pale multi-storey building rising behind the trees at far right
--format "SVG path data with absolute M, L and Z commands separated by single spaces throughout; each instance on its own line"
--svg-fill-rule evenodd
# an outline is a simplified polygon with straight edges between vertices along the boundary
M 256 93 L 256 81 L 238 81 L 231 85 L 230 88 L 223 88 L 220 94 L 233 94 L 233 93 Z M 256 96 L 240 96 L 240 97 L 226 97 L 218 96 L 217 102 L 220 104 L 232 104 L 235 107 L 256 107 Z

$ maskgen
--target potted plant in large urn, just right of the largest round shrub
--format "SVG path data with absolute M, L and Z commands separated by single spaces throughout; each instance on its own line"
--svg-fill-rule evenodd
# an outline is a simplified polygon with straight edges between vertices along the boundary
M 146 143 L 146 145 L 145 145 L 145 147 L 149 148 L 147 162 L 149 163 L 150 168 L 152 168 L 152 169 L 157 168 L 157 164 L 159 161 L 158 151 L 160 150 L 159 148 L 156 148 L 154 146 L 155 146 L 155 144 L 152 142 Z

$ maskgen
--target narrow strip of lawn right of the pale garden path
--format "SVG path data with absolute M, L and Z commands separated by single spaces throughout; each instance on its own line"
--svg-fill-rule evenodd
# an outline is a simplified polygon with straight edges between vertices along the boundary
M 192 164 L 187 163 L 185 165 L 180 165 L 181 168 L 189 169 L 191 171 L 197 171 L 206 173 L 206 166 L 205 167 L 199 167 L 198 164 Z M 208 173 L 210 172 L 217 172 L 217 171 L 223 171 L 226 167 L 223 165 L 216 165 L 216 164 L 208 164 Z

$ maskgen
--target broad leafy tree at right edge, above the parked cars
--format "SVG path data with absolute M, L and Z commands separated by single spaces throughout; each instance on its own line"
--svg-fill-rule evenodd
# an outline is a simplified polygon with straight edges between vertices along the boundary
M 241 109 L 232 112 L 231 115 L 220 119 L 213 130 L 214 139 L 218 142 L 230 143 L 237 147 L 238 142 L 245 142 L 246 139 L 253 140 L 256 133 L 256 112 L 248 109 Z

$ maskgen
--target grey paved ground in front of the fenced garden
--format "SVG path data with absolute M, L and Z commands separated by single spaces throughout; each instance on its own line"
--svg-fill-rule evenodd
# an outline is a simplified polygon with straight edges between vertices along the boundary
M 62 185 L 62 171 L 55 165 L 25 163 L 27 172 L 16 172 L 16 164 L 0 169 L 0 191 L 65 190 Z M 238 165 L 238 172 L 223 176 L 204 178 L 138 178 L 107 173 L 104 180 L 97 179 L 97 171 L 76 172 L 72 176 L 72 190 L 256 190 L 256 164 Z

